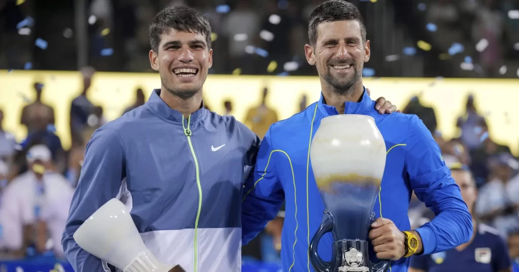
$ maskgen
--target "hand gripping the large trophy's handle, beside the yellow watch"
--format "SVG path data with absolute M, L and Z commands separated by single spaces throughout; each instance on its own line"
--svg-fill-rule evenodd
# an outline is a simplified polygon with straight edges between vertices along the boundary
M 393 221 L 387 218 L 377 218 L 371 227 L 369 237 L 378 259 L 397 261 L 406 254 L 405 234 Z

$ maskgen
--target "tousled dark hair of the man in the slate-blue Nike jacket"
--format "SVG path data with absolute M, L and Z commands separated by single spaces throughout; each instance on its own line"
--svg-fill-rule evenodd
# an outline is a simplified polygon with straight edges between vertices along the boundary
M 157 13 L 149 25 L 149 44 L 153 51 L 158 51 L 160 35 L 167 34 L 172 29 L 205 36 L 208 49 L 211 49 L 211 25 L 207 18 L 194 8 L 173 6 Z

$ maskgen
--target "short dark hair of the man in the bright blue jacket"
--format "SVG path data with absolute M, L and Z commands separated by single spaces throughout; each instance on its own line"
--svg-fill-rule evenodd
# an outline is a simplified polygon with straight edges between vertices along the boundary
M 308 39 L 311 46 L 317 43 L 317 27 L 321 23 L 335 21 L 358 21 L 361 28 L 362 41 L 366 41 L 366 26 L 359 9 L 345 0 L 328 0 L 314 9 L 308 23 Z

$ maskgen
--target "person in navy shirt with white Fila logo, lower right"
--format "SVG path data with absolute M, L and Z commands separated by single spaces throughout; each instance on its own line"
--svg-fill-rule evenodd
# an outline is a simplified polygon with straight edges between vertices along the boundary
M 472 212 L 477 189 L 469 167 L 460 163 L 449 167 L 463 201 Z M 469 242 L 431 255 L 412 256 L 409 272 L 511 272 L 509 252 L 498 230 L 478 223 L 474 217 L 472 224 L 474 234 Z

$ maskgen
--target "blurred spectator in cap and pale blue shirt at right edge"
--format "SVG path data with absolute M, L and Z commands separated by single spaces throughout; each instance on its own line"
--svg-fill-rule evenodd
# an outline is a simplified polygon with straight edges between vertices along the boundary
M 480 189 L 475 213 L 506 237 L 519 226 L 519 197 L 511 195 L 511 192 L 517 192 L 513 188 L 517 184 L 510 182 L 513 167 L 519 166 L 510 153 L 503 152 L 496 157 L 490 162 L 492 175 Z

